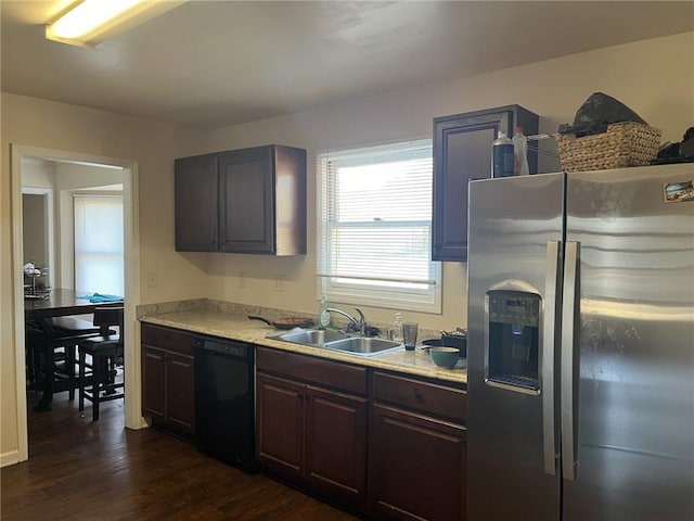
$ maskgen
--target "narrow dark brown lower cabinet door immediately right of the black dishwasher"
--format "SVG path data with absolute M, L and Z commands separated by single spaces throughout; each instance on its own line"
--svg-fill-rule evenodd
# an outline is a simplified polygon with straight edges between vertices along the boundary
M 286 478 L 298 478 L 304 459 L 305 385 L 256 373 L 258 461 Z

